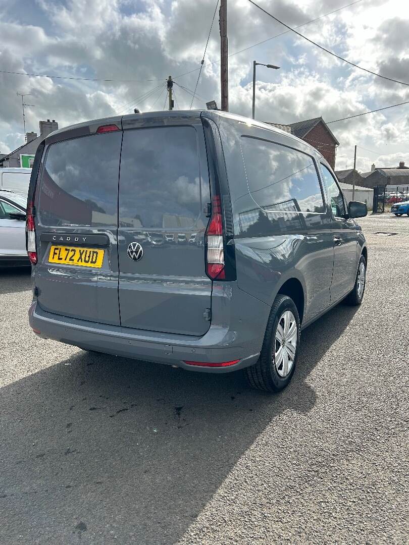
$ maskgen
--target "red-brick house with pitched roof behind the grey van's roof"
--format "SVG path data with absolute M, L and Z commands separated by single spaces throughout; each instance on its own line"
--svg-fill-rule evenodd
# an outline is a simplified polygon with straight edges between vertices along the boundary
M 333 169 L 335 168 L 336 147 L 339 146 L 339 142 L 322 117 L 306 119 L 289 125 L 279 123 L 268 123 L 268 125 L 274 125 L 278 129 L 290 132 L 308 142 L 326 158 Z

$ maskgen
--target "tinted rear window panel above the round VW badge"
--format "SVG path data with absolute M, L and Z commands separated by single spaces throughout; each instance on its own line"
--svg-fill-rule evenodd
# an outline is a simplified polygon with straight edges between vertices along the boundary
M 195 129 L 124 131 L 119 187 L 120 226 L 193 225 L 200 214 L 201 190 L 206 189 L 200 185 Z

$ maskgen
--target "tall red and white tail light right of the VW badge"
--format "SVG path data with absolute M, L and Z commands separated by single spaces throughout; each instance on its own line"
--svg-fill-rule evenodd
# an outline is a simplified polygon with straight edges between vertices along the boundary
M 206 231 L 207 276 L 212 280 L 224 280 L 223 223 L 220 195 L 212 197 L 212 217 Z

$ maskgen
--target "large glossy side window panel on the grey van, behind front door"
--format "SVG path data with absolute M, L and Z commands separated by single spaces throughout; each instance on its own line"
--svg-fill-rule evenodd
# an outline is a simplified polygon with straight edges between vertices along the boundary
M 256 138 L 242 138 L 250 195 L 267 211 L 324 212 L 314 160 Z

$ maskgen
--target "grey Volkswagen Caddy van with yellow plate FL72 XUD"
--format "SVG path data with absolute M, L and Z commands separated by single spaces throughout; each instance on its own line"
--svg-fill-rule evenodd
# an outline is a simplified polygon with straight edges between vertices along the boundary
M 70 126 L 35 155 L 29 323 L 85 350 L 243 369 L 279 391 L 300 330 L 363 299 L 354 218 L 366 214 L 314 148 L 250 119 L 173 111 Z

